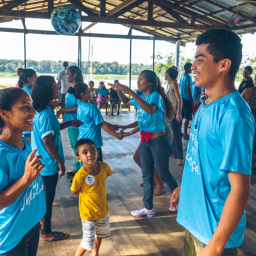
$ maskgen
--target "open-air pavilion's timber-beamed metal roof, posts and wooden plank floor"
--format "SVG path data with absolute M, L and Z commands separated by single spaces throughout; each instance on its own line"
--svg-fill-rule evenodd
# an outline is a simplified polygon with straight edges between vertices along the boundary
M 198 34 L 209 28 L 236 29 L 236 33 L 255 33 L 256 1 L 254 0 L 0 0 L 0 22 L 21 19 L 23 29 L 0 28 L 0 31 L 24 33 L 26 60 L 26 35 L 28 33 L 58 35 L 54 31 L 39 31 L 26 28 L 26 18 L 50 19 L 52 10 L 61 4 L 72 4 L 81 13 L 83 22 L 92 22 L 73 35 L 79 44 L 78 65 L 81 65 L 81 37 L 112 37 L 131 40 L 166 40 L 177 45 L 176 62 L 179 62 L 179 47 L 194 42 Z M 233 17 L 233 18 L 232 18 Z M 237 19 L 232 23 L 234 17 Z M 243 21 L 243 22 L 242 22 Z M 127 35 L 92 34 L 88 29 L 98 22 L 129 26 Z M 134 36 L 132 30 L 142 31 L 148 36 Z M 3 51 L 3 49 L 2 49 Z M 152 49 L 154 52 L 154 47 Z M 150 52 L 150 54 L 152 54 Z M 153 59 L 154 60 L 154 59 Z M 153 63 L 154 67 L 154 63 Z M 130 72 L 131 74 L 131 72 Z M 129 124 L 136 120 L 134 113 L 106 116 L 112 124 Z M 67 170 L 72 170 L 74 155 L 69 146 L 67 131 L 61 132 Z M 184 228 L 175 221 L 176 213 L 168 211 L 170 191 L 154 198 L 156 218 L 135 219 L 130 211 L 140 207 L 143 189 L 140 187 L 141 171 L 132 155 L 138 147 L 138 134 L 123 141 L 102 134 L 104 161 L 113 169 L 107 181 L 108 202 L 112 235 L 102 242 L 100 255 L 182 255 Z M 184 142 L 186 152 L 187 141 Z M 182 166 L 177 166 L 170 157 L 170 170 L 180 184 Z M 62 177 L 58 182 L 52 215 L 53 230 L 70 234 L 67 240 L 57 243 L 40 243 L 39 256 L 74 255 L 81 241 L 82 228 L 79 219 L 78 198 L 70 193 L 70 182 Z M 246 232 L 239 247 L 239 255 L 256 255 L 256 180 L 252 180 L 251 194 L 246 207 Z M 90 253 L 86 252 L 86 255 Z

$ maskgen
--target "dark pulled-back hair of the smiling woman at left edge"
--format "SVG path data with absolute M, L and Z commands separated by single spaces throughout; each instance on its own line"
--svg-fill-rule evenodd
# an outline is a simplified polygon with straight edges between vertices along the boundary
M 22 93 L 27 93 L 22 88 L 5 88 L 0 90 L 0 109 L 10 111 L 12 109 L 13 104 L 17 102 Z M 5 123 L 3 118 L 0 116 L 0 133 L 3 131 Z

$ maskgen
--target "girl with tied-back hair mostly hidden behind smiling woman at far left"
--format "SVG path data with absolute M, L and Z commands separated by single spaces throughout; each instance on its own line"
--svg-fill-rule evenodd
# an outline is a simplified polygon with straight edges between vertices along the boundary
M 19 79 L 19 87 L 23 88 L 24 90 L 26 90 L 28 92 L 29 95 L 31 95 L 31 90 L 32 90 L 32 87 L 33 87 L 36 77 L 37 76 L 36 76 L 35 70 L 33 70 L 31 68 L 22 70 L 22 72 L 20 74 L 20 79 Z M 24 131 L 23 135 L 24 135 L 24 137 L 27 138 L 29 143 L 31 143 L 31 132 Z

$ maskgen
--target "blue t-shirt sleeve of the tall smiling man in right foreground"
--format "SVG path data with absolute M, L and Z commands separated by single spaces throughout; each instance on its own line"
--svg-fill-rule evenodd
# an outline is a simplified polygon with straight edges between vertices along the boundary
M 225 152 L 221 170 L 251 174 L 254 132 L 255 123 L 250 119 L 245 120 L 237 115 L 237 118 L 233 116 L 225 120 L 220 127 L 220 140 Z

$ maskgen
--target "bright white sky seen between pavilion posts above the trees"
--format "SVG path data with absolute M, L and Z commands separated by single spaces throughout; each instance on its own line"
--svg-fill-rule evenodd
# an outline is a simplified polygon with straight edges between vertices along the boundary
M 83 22 L 82 29 L 90 23 Z M 26 19 L 27 29 L 54 30 L 51 20 Z M 4 22 L 0 28 L 23 28 L 21 20 Z M 127 35 L 129 28 L 118 24 L 96 24 L 86 33 L 109 33 L 117 35 Z M 139 31 L 132 30 L 132 35 L 145 35 Z M 24 35 L 22 33 L 0 32 L 0 58 L 8 60 L 24 60 Z M 254 58 L 256 34 L 243 35 L 243 59 Z M 103 62 L 117 61 L 120 64 L 129 63 L 129 44 L 127 39 L 111 38 L 91 38 L 90 60 Z M 78 38 L 77 36 L 61 35 L 26 35 L 26 58 L 29 60 L 54 60 L 54 61 L 77 61 Z M 82 37 L 82 61 L 88 60 L 89 38 Z M 180 47 L 182 54 L 186 58 L 193 59 L 196 46 L 193 43 Z M 166 56 L 175 54 L 175 44 L 164 41 L 157 41 L 155 44 L 155 54 Z M 153 42 L 150 40 L 132 40 L 132 63 L 152 64 Z

